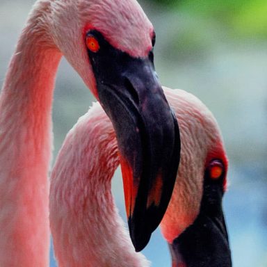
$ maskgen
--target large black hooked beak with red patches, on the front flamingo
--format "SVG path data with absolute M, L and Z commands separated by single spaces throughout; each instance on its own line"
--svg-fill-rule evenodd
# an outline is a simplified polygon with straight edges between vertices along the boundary
M 156 76 L 152 52 L 133 58 L 98 31 L 89 31 L 87 38 L 97 48 L 88 49 L 88 56 L 99 101 L 118 139 L 129 231 L 140 251 L 161 223 L 172 195 L 179 128 Z

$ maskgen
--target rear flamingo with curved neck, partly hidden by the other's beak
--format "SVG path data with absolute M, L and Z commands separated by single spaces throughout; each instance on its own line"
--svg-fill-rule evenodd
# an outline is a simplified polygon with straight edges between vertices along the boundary
M 179 172 L 161 222 L 172 266 L 232 266 L 222 209 L 227 156 L 218 124 L 188 92 L 164 92 L 181 133 Z M 67 134 L 51 173 L 50 224 L 59 267 L 149 266 L 135 252 L 111 194 L 119 163 L 113 126 L 95 103 Z

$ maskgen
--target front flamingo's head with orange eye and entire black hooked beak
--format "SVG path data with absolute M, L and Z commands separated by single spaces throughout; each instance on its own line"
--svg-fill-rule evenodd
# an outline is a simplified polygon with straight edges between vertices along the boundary
M 168 207 L 180 152 L 177 120 L 154 69 L 153 26 L 135 0 L 51 5 L 51 39 L 113 122 L 129 231 L 140 251 Z

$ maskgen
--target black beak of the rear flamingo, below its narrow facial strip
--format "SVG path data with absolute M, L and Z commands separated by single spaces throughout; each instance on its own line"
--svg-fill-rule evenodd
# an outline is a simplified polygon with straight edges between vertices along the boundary
M 172 244 L 172 267 L 230 267 L 231 252 L 225 220 L 201 214 Z

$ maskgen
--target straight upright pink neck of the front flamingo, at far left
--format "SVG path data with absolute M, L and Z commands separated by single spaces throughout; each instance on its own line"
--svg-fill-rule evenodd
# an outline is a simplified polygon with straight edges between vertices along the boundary
M 49 266 L 51 104 L 61 55 L 42 47 L 25 29 L 0 96 L 0 266 Z

